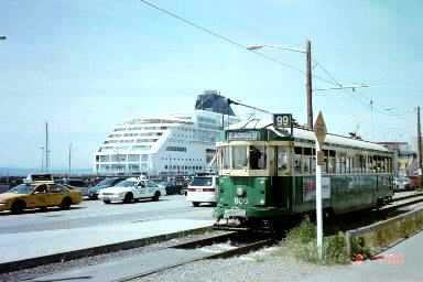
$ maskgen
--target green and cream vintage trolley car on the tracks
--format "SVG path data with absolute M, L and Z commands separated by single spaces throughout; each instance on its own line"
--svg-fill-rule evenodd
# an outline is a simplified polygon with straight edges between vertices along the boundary
M 313 131 L 251 120 L 226 130 L 217 148 L 217 224 L 283 219 L 315 209 Z M 384 147 L 328 133 L 323 151 L 325 212 L 344 214 L 392 199 L 394 154 Z

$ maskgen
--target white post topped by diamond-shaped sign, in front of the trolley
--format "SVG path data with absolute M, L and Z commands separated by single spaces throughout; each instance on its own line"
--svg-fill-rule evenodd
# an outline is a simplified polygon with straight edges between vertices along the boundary
M 314 123 L 316 135 L 316 221 L 317 221 L 317 252 L 318 258 L 323 257 L 323 217 L 322 217 L 322 165 L 324 164 L 323 143 L 325 142 L 327 129 L 322 111 L 318 112 Z

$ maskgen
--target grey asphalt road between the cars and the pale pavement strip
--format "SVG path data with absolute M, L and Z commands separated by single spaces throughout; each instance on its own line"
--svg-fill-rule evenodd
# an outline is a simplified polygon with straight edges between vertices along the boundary
M 0 213 L 0 235 L 169 218 L 212 219 L 212 206 L 194 208 L 182 195 L 163 196 L 159 202 L 145 200 L 124 205 L 85 200 L 70 210 L 50 208 L 48 212 L 29 210 L 22 215 Z

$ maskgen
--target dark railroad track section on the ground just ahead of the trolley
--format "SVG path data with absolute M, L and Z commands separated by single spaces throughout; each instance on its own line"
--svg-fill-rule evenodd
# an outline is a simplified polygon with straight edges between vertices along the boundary
M 265 237 L 260 234 L 252 234 L 249 231 L 227 231 L 219 235 L 209 235 L 205 238 L 193 239 L 182 243 L 167 247 L 175 250 L 195 250 L 199 254 L 192 259 L 175 261 L 167 265 L 151 269 L 138 274 L 120 278 L 113 282 L 129 282 L 137 281 L 138 279 L 160 273 L 169 269 L 181 267 L 187 263 L 193 263 L 207 259 L 223 259 L 235 256 L 246 254 L 250 251 L 258 250 L 265 246 L 271 246 L 276 241 L 275 238 Z

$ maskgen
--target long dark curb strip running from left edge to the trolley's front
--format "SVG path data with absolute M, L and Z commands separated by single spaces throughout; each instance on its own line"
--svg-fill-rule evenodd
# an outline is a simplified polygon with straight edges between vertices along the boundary
M 42 264 L 69 261 L 69 260 L 85 258 L 85 257 L 94 257 L 94 256 L 120 251 L 120 250 L 128 250 L 128 249 L 144 247 L 151 243 L 156 243 L 156 242 L 162 242 L 162 241 L 166 241 L 175 238 L 185 237 L 187 235 L 204 234 L 212 229 L 213 229 L 213 226 L 207 226 L 207 227 L 188 229 L 188 230 L 183 230 L 183 231 L 177 231 L 172 234 L 164 234 L 159 236 L 135 239 L 135 240 L 97 246 L 97 247 L 87 248 L 87 249 L 54 253 L 54 254 L 36 257 L 36 258 L 31 258 L 25 260 L 4 262 L 4 263 L 0 263 L 0 273 L 7 273 L 7 272 L 22 270 L 22 269 L 35 268 Z

